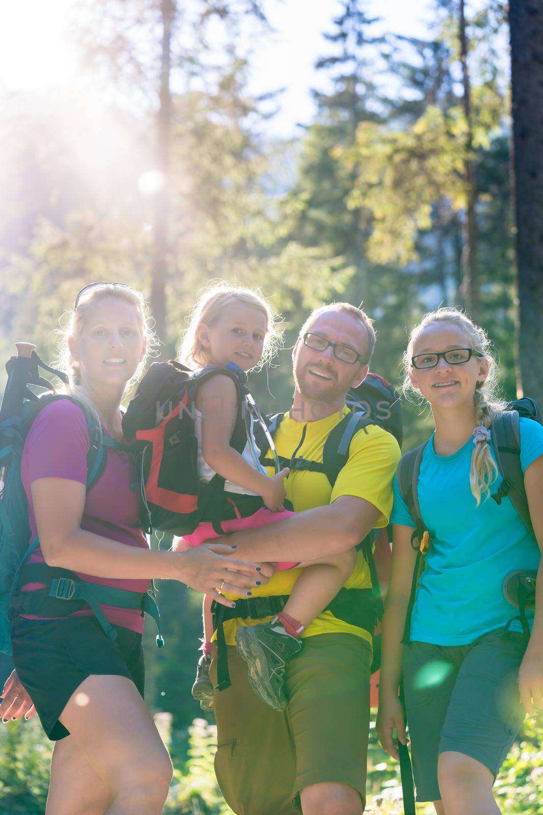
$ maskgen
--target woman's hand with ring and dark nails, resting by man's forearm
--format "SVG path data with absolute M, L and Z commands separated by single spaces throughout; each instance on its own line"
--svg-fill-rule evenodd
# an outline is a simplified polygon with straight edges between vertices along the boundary
M 268 582 L 261 566 L 234 560 L 235 547 L 228 544 L 202 544 L 186 552 L 175 552 L 175 579 L 196 588 L 221 603 L 234 608 L 235 603 L 221 592 L 251 596 L 251 589 Z

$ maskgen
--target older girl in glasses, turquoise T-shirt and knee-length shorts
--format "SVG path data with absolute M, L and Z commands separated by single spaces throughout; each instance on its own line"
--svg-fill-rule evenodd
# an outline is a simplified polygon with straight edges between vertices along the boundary
M 503 593 L 507 575 L 541 562 L 543 427 L 520 419 L 534 540 L 509 499 L 492 500 L 501 475 L 489 428 L 504 407 L 496 384 L 488 337 L 461 311 L 432 311 L 411 332 L 405 389 L 426 399 L 436 423 L 416 485 L 430 548 L 402 648 L 416 552 L 414 521 L 396 478 L 377 728 L 397 758 L 394 731 L 405 743 L 403 670 L 417 800 L 433 801 L 438 815 L 499 812 L 494 778 L 524 708 L 541 707 L 543 694 L 541 588 L 535 616 L 527 612 L 528 647 L 520 623 L 508 625 L 516 610 Z

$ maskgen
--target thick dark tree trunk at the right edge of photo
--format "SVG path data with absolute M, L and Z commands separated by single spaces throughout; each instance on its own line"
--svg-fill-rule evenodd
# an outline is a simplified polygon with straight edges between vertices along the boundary
M 543 6 L 510 0 L 511 99 L 523 392 L 543 404 Z

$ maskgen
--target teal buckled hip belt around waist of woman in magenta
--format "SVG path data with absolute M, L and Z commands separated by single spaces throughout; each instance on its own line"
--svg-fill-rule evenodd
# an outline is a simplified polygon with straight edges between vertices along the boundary
M 21 592 L 20 585 L 27 583 L 42 583 L 44 586 L 35 591 Z M 110 640 L 115 641 L 116 628 L 109 622 L 100 606 L 141 610 L 151 615 L 158 631 L 156 645 L 159 648 L 164 645 L 160 612 L 150 592 L 130 592 L 125 588 L 85 583 L 72 571 L 47 566 L 46 563 L 25 563 L 21 567 L 17 587 L 11 596 L 10 615 L 11 618 L 14 615 L 68 617 L 77 611 L 90 608 L 103 632 Z

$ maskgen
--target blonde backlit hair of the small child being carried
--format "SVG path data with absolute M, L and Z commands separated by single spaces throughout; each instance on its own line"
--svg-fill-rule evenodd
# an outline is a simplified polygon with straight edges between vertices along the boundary
M 269 363 L 270 359 L 274 358 L 281 346 L 282 335 L 278 327 L 280 318 L 269 305 L 269 302 L 258 290 L 232 285 L 224 280 L 213 280 L 199 294 L 194 308 L 186 318 L 188 327 L 183 334 L 178 354 L 179 360 L 184 365 L 190 368 L 194 365 L 206 365 L 208 363 L 204 347 L 199 341 L 198 326 L 204 323 L 211 327 L 217 322 L 217 318 L 222 312 L 233 303 L 245 303 L 265 315 L 264 348 L 260 362 L 256 365 L 256 370 L 260 370 L 265 363 Z

